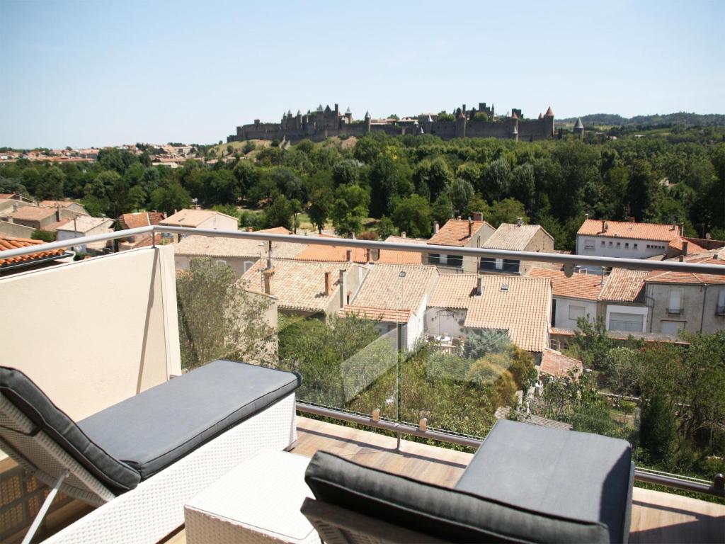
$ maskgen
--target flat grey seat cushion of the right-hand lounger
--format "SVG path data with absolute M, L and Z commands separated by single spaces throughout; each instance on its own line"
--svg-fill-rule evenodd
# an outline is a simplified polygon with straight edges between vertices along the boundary
M 631 446 L 586 432 L 497 421 L 455 488 L 608 527 L 626 542 Z

